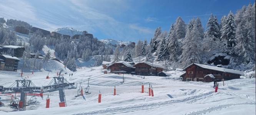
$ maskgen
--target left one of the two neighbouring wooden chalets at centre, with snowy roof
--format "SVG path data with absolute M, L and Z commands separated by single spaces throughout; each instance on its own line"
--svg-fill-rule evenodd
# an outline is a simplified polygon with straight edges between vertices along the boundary
M 108 68 L 112 73 L 130 74 L 131 72 L 135 71 L 135 67 L 133 67 L 133 65 L 134 65 L 134 62 L 118 61 L 110 64 Z

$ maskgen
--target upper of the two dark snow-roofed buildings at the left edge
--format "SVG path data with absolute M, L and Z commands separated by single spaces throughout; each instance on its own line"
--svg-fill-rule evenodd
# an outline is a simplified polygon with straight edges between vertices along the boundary
M 23 52 L 25 51 L 25 47 L 22 47 L 22 46 L 9 45 L 9 46 L 2 46 L 1 48 L 2 48 L 0 49 L 1 53 L 7 53 L 9 49 L 13 49 L 14 56 L 18 58 L 21 58 L 23 55 Z

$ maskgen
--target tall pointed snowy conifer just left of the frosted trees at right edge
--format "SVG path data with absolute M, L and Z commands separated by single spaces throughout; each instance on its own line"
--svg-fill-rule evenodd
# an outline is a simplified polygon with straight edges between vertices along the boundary
M 236 35 L 236 23 L 234 21 L 233 13 L 230 11 L 226 19 L 226 23 L 221 29 L 221 39 L 223 40 L 224 47 L 222 51 L 228 55 L 235 55 L 234 46 L 236 46 L 237 41 Z

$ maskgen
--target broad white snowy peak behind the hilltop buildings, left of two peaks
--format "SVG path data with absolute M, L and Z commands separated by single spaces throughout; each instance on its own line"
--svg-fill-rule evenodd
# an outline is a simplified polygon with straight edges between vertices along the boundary
M 74 28 L 58 28 L 55 30 L 56 32 L 63 34 L 63 35 L 70 35 L 70 36 L 74 36 L 74 35 L 82 35 L 83 31 L 80 30 L 76 30 Z

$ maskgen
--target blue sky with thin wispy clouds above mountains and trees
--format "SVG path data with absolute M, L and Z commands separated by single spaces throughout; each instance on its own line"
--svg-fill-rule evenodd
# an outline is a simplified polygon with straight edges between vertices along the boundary
M 155 28 L 169 31 L 178 16 L 188 23 L 209 15 L 220 18 L 254 0 L 1 0 L 0 17 L 17 19 L 54 31 L 70 27 L 98 39 L 151 39 Z

